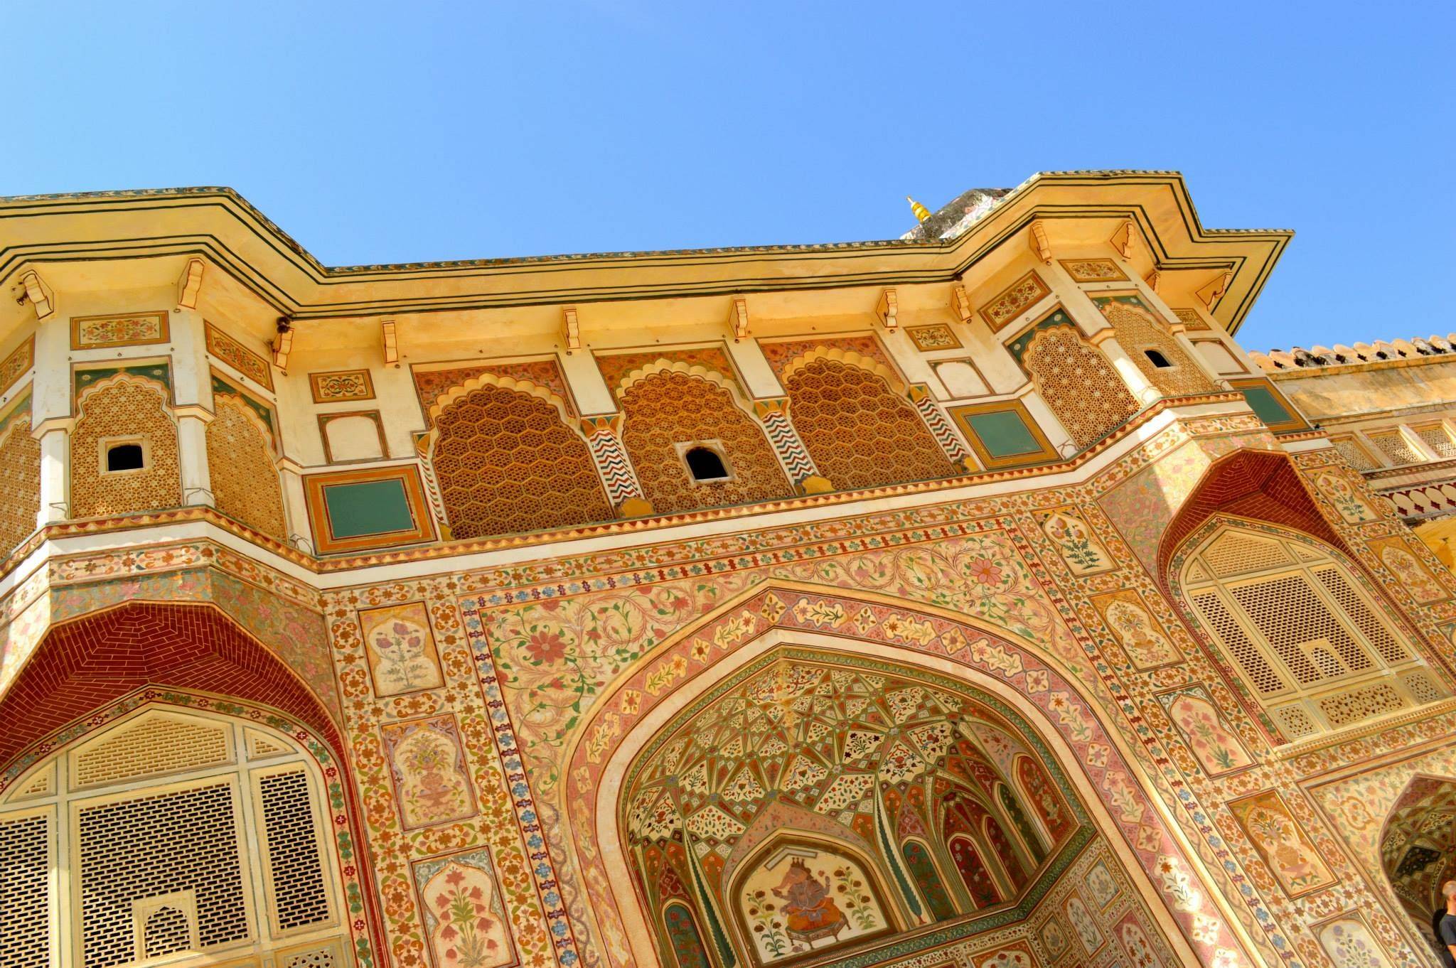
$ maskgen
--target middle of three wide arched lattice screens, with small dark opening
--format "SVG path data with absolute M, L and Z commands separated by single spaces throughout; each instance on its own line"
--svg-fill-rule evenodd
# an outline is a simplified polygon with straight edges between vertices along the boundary
M 654 511 L 676 514 L 794 493 L 763 428 L 719 374 L 684 371 L 664 361 L 661 368 L 632 377 L 619 392 L 622 444 Z M 681 457 L 692 445 L 718 453 L 729 477 L 693 480 Z

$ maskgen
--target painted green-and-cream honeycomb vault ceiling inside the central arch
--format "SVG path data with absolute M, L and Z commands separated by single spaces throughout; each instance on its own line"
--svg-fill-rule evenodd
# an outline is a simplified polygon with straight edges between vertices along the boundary
M 779 661 L 680 726 L 636 777 L 628 828 L 686 828 L 728 856 L 770 801 L 855 830 L 878 785 L 987 788 L 1025 742 L 989 709 L 911 677 Z

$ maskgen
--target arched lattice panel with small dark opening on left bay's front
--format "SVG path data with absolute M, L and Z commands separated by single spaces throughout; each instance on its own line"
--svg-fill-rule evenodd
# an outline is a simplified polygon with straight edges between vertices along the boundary
M 118 373 L 86 387 L 70 440 L 73 518 L 181 507 L 178 428 L 163 384 Z M 111 443 L 137 443 L 144 466 L 108 472 Z

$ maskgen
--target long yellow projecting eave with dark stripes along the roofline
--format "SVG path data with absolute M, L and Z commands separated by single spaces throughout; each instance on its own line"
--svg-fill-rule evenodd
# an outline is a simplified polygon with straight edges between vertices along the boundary
M 281 316 L 309 319 L 951 282 L 1041 220 L 1054 246 L 1137 227 L 1134 263 L 1190 291 L 1227 277 L 1213 314 L 1230 332 L 1293 236 L 1204 229 L 1176 172 L 1050 172 L 949 240 L 885 240 L 331 268 L 229 188 L 0 198 L 0 282 L 33 268 L 61 291 L 160 284 L 201 256 Z M 138 261 L 153 261 L 149 271 Z M 150 277 L 156 277 L 151 279 Z M 10 300 L 0 317 L 15 313 Z M 12 319 L 0 319 L 9 325 Z

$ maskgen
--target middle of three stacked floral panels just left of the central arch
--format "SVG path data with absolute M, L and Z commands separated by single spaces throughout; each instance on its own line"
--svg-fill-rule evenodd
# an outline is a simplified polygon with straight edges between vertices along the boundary
M 406 830 L 475 815 L 454 716 L 380 726 Z

